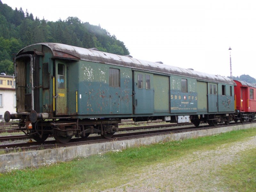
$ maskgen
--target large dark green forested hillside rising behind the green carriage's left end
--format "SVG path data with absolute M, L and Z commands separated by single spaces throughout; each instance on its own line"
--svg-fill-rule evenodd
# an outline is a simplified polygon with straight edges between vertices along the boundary
M 82 22 L 77 17 L 48 21 L 34 18 L 22 8 L 12 10 L 0 0 L 0 72 L 13 73 L 13 54 L 35 43 L 62 43 L 103 52 L 128 55 L 124 43 L 100 26 Z

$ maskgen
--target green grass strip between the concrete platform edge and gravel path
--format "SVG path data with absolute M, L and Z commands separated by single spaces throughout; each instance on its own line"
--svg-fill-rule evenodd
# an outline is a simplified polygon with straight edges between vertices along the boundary
M 165 141 L 124 151 L 0 174 L 0 191 L 101 191 L 136 179 L 148 165 L 170 162 L 198 150 L 256 135 L 256 128 L 197 139 Z M 255 176 L 255 175 L 254 175 Z

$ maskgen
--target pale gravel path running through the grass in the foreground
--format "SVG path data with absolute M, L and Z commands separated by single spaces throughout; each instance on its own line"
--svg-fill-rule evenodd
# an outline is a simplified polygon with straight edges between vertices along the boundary
M 252 148 L 256 149 L 256 136 L 214 150 L 196 151 L 176 161 L 148 166 L 134 175 L 134 180 L 106 191 L 227 191 L 218 185 L 221 178 L 212 175 L 223 165 L 239 160 L 239 152 Z

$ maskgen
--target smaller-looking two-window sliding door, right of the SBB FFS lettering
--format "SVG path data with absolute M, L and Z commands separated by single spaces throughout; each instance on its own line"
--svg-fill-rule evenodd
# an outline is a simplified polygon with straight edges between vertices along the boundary
M 218 112 L 218 84 L 208 83 L 208 112 Z

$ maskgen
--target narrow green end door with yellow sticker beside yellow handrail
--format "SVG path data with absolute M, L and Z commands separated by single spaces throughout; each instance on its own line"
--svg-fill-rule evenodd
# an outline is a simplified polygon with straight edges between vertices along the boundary
M 55 61 L 55 113 L 67 115 L 67 63 Z

